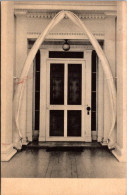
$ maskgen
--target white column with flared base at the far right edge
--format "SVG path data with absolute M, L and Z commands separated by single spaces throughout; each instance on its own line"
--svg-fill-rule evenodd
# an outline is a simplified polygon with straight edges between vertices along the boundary
M 117 145 L 112 152 L 120 162 L 126 162 L 127 110 L 127 3 L 117 2 Z

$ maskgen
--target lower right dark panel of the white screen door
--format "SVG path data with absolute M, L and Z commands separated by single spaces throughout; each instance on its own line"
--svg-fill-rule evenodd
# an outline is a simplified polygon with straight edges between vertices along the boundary
M 67 136 L 81 136 L 81 110 L 67 111 Z

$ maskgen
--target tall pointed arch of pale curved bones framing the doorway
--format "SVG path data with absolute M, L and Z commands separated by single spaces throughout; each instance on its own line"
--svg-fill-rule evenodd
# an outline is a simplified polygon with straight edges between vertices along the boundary
M 19 138 L 21 138 L 22 140 L 22 132 L 20 130 L 20 126 L 19 126 L 19 113 L 20 113 L 20 109 L 22 106 L 22 96 L 23 96 L 23 89 L 24 89 L 24 85 L 26 84 L 25 79 L 30 66 L 32 65 L 32 62 L 35 58 L 35 55 L 39 49 L 39 47 L 41 46 L 41 44 L 43 43 L 46 35 L 51 31 L 51 29 L 56 26 L 65 16 L 67 16 L 72 22 L 74 22 L 76 25 L 78 25 L 78 27 L 83 30 L 87 36 L 88 39 L 90 40 L 91 44 L 93 45 L 100 61 L 101 61 L 101 66 L 103 68 L 104 74 L 106 76 L 106 81 L 108 84 L 108 90 L 109 90 L 109 94 L 110 94 L 110 100 L 111 100 L 111 110 L 112 110 L 112 125 L 109 131 L 109 136 L 108 136 L 108 143 L 113 142 L 113 144 L 115 143 L 115 140 L 112 140 L 112 134 L 114 133 L 114 126 L 115 126 L 115 122 L 116 122 L 116 88 L 115 88 L 115 84 L 114 84 L 114 79 L 112 76 L 112 72 L 110 69 L 110 65 L 109 62 L 102 50 L 102 48 L 100 47 L 98 41 L 96 40 L 96 38 L 93 36 L 93 34 L 90 32 L 90 30 L 86 27 L 86 25 L 81 21 L 81 19 L 74 14 L 71 11 L 60 11 L 58 14 L 56 14 L 56 16 L 51 20 L 51 22 L 48 24 L 48 26 L 45 28 L 45 30 L 40 34 L 40 36 L 38 37 L 38 39 L 36 40 L 36 42 L 34 43 L 32 49 L 30 50 L 20 79 L 19 79 L 19 84 L 16 88 L 15 94 L 14 94 L 14 105 L 15 105 L 15 112 L 14 112 L 14 119 L 15 119 L 15 125 L 16 125 L 16 129 L 18 131 L 19 134 Z

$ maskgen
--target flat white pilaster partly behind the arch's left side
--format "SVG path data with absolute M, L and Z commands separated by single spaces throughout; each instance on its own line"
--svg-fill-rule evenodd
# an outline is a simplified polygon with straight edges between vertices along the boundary
M 25 16 L 26 12 L 16 13 L 16 77 L 19 78 L 27 58 L 27 18 Z M 22 105 L 19 116 L 19 125 L 23 137 L 23 145 L 28 144 L 27 142 L 27 78 L 25 79 L 25 88 L 22 97 Z

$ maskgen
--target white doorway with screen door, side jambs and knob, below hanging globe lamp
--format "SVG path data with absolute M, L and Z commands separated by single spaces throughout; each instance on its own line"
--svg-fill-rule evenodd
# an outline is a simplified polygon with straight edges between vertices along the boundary
M 73 59 L 40 51 L 39 141 L 91 142 L 92 50 Z

